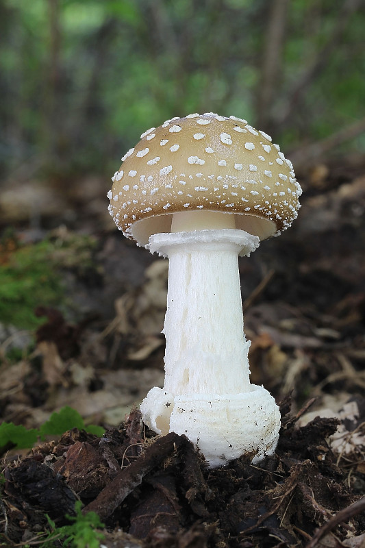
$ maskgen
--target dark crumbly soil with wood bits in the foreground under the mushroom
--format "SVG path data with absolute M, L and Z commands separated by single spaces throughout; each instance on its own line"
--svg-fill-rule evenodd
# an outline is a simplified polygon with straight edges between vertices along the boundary
M 62 525 L 81 499 L 105 523 L 108 547 L 312 547 L 325 535 L 341 546 L 365 530 L 364 462 L 336 462 L 327 439 L 337 419 L 298 427 L 306 409 L 289 408 L 287 398 L 277 452 L 259 466 L 242 457 L 207 469 L 185 436 L 151 436 L 138 410 L 101 439 L 67 432 L 5 468 L 2 538 L 31 538 L 45 514 Z

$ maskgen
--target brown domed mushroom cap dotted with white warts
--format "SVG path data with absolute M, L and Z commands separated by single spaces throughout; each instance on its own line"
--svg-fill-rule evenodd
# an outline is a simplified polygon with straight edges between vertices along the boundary
M 170 232 L 172 214 L 235 214 L 236 228 L 261 239 L 297 217 L 301 187 L 292 164 L 264 132 L 213 113 L 166 121 L 141 135 L 114 174 L 110 214 L 140 245 Z

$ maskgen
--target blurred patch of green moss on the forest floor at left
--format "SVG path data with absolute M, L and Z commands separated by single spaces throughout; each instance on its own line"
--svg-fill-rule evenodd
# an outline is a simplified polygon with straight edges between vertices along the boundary
M 93 268 L 92 249 L 95 240 L 62 228 L 45 240 L 16 247 L 11 238 L 0 246 L 0 321 L 22 329 L 34 329 L 44 323 L 34 310 L 42 306 L 67 307 L 61 272 L 77 271 L 78 275 Z

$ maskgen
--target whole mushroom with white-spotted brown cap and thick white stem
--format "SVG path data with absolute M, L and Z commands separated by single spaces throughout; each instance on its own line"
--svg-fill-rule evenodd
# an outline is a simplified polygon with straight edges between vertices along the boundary
M 277 145 L 247 121 L 189 114 L 144 132 L 112 180 L 127 238 L 168 257 L 163 388 L 142 401 L 158 434 L 186 434 L 211 467 L 277 445 L 275 399 L 249 381 L 238 256 L 297 216 L 301 187 Z

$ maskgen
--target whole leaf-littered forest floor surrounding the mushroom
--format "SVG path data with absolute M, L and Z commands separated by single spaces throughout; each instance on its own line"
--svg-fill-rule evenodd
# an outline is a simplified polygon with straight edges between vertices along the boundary
M 299 180 L 297 221 L 240 260 L 251 382 L 281 408 L 277 451 L 214 470 L 136 407 L 163 383 L 167 262 L 114 229 L 97 178 L 30 181 L 24 203 L 16 184 L 1 193 L 1 420 L 38 428 L 71 406 L 105 434 L 3 447 L 0 545 L 46 546 L 49 519 L 70 523 L 80 500 L 104 527 L 79 547 L 365 546 L 365 164 Z

